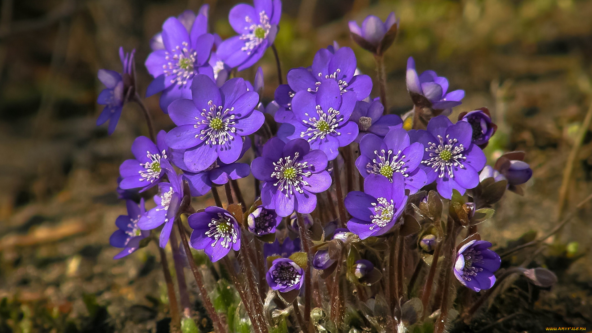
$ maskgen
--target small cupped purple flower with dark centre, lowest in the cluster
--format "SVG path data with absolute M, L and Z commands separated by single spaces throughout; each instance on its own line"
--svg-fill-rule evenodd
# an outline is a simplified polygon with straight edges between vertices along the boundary
M 265 278 L 271 289 L 287 293 L 294 289 L 300 290 L 304 283 L 304 270 L 292 260 L 277 258 Z

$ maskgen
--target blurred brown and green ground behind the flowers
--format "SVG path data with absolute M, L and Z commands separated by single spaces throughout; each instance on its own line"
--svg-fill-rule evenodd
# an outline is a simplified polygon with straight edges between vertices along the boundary
M 119 250 L 108 238 L 115 218 L 126 214 L 115 193 L 118 167 L 131 157 L 134 138 L 147 132 L 134 104 L 124 107 L 112 136 L 106 124 L 95 126 L 102 110 L 96 97 L 104 88 L 96 72 L 121 71 L 118 48 L 135 48 L 143 94 L 151 80 L 143 67 L 149 40 L 166 18 L 209 4 L 211 32 L 225 39 L 234 34 L 227 15 L 238 2 L 1 1 L 1 333 L 168 331 L 153 244 L 112 260 Z M 384 20 L 391 11 L 400 30 L 385 54 L 390 113 L 412 107 L 408 56 L 418 72 L 435 70 L 451 89 L 465 89 L 451 119 L 488 107 L 498 124 L 486 149 L 491 163 L 521 150 L 534 171 L 524 196 L 507 193 L 498 204 L 496 216 L 481 227 L 482 238 L 506 248 L 551 230 L 592 192 L 592 132 L 582 128 L 592 101 L 592 1 L 284 0 L 276 39 L 284 75 L 310 65 L 318 48 L 337 41 L 352 47 L 360 71 L 374 78 L 374 58 L 350 40 L 347 23 L 369 14 Z M 268 102 L 278 84 L 271 50 L 258 65 Z M 252 80 L 255 69 L 239 76 Z M 375 89 L 372 97 L 377 95 Z M 146 104 L 156 129 L 172 128 L 158 96 Z M 570 176 L 564 177 L 568 161 Z M 200 200 L 195 207 L 211 198 Z M 532 258 L 558 274 L 558 285 L 542 293 L 519 288 L 524 294 L 511 296 L 516 299 L 498 297 L 494 314 L 483 320 L 505 318 L 520 302 L 530 319 L 509 319 L 489 331 L 590 327 L 590 223 L 588 205 Z M 511 260 L 520 264 L 523 258 Z

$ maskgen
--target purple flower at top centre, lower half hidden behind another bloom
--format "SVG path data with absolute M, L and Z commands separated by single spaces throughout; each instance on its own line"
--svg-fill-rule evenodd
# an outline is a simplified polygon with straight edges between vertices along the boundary
M 355 75 L 356 56 L 349 47 L 341 47 L 334 54 L 327 49 L 318 50 L 310 69 L 299 67 L 288 72 L 288 85 L 294 92 L 317 92 L 326 82 L 335 82 L 342 94 L 353 91 L 355 100 L 361 101 L 372 91 L 368 75 Z

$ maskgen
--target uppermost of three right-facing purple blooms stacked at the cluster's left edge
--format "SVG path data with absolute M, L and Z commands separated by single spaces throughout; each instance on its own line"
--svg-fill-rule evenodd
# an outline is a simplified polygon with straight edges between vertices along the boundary
M 128 159 L 119 167 L 123 178 L 119 183 L 121 189 L 141 188 L 140 192 L 146 191 L 165 175 L 162 164 L 169 158 L 165 136 L 166 132 L 161 130 L 156 136 L 156 145 L 145 136 L 139 136 L 134 140 L 131 152 L 135 159 Z

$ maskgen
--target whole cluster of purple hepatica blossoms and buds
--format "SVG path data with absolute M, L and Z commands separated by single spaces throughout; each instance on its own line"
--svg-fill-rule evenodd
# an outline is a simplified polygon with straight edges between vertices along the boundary
M 122 196 L 131 197 L 131 192 L 152 187 L 158 193 L 153 197 L 155 207 L 147 211 L 143 199 L 139 207 L 127 201 L 128 215 L 118 217 L 118 230 L 111 236 L 113 246 L 124 248 L 115 258 L 136 251 L 150 230 L 161 226 L 159 245 L 164 248 L 173 224 L 180 223 L 179 215 L 193 212 L 181 209 L 182 202 L 190 201 L 184 198 L 204 196 L 221 185 L 226 186 L 228 195 L 230 184 L 236 186 L 236 180 L 252 174 L 259 186 L 260 203 L 250 210 L 243 207 L 249 210 L 244 222 L 230 207 L 205 207 L 188 216 L 192 228 L 189 243 L 215 262 L 231 250 L 242 251 L 249 239 L 265 238 L 269 244 L 263 247 L 263 255 L 279 256 L 271 262 L 266 281 L 271 289 L 287 293 L 301 289 L 305 274 L 309 274 L 288 258 L 304 249 L 307 241 L 303 237 L 307 230 L 299 230 L 298 219 L 305 220 L 306 229 L 320 222 L 318 217 L 303 214 L 313 213 L 320 202 L 334 204 L 332 194 L 328 193 L 329 200 L 318 194 L 340 188 L 330 190 L 339 180 L 340 169 L 363 178 L 360 191 L 349 191 L 337 203 L 344 208 L 340 219 L 345 220 L 340 220 L 340 225 L 347 229 L 335 230 L 333 226 L 332 242 L 342 243 L 348 233 L 362 240 L 390 235 L 403 216 L 410 214 L 406 208 L 411 196 L 429 190 L 432 184 L 440 197 L 452 199 L 453 191 L 462 196 L 486 178 L 506 180 L 514 190 L 532 175 L 523 158 L 508 156 L 495 168 L 486 166 L 482 148 L 497 128 L 488 110 L 462 113 L 452 123 L 448 115 L 461 104 L 464 91 L 448 92 L 448 80 L 433 71 L 418 75 L 411 57 L 407 62 L 411 98 L 416 105 L 423 103 L 422 107 L 434 110 L 425 129 L 404 129 L 400 116 L 388 114 L 378 98 L 369 97 L 372 79 L 359 73 L 349 47 L 320 49 L 311 66 L 291 69 L 288 84 L 279 85 L 275 100 L 266 107 L 260 103 L 260 68 L 255 84 L 238 77 L 229 79 L 229 74 L 233 68 L 242 71 L 255 65 L 274 45 L 280 17 L 279 0 L 236 5 L 229 21 L 238 35 L 221 40 L 208 33 L 206 6 L 197 15 L 186 11 L 170 17 L 162 32 L 153 37 L 152 53 L 144 65 L 154 79 L 146 95 L 161 92 L 160 107 L 175 127 L 168 133 L 160 131 L 156 142 L 137 137 L 131 146 L 134 159 L 121 164 L 118 190 Z M 350 23 L 356 43 L 376 56 L 390 46 L 397 28 L 398 20 L 392 13 L 385 23 L 374 16 L 366 18 L 362 27 Z M 97 124 L 110 120 L 109 133 L 114 131 L 124 103 L 136 96 L 134 52 L 124 55 L 122 49 L 120 53 L 123 74 L 98 73 L 107 88 L 98 98 L 98 103 L 106 106 Z M 272 117 L 267 115 L 266 119 L 265 113 Z M 268 133 L 270 139 L 258 131 L 269 132 L 266 121 L 271 118 L 278 123 L 278 130 L 275 136 Z M 246 153 L 252 147 L 256 158 L 250 164 L 241 162 L 250 156 Z M 345 147 L 348 150 L 340 149 Z M 348 162 L 340 166 L 340 159 Z M 333 165 L 329 165 L 331 161 L 335 161 Z M 233 191 L 239 197 L 237 188 Z M 282 226 L 288 216 L 292 222 Z M 285 232 L 283 240 L 275 237 L 285 229 L 301 237 L 292 241 Z M 418 242 L 426 251 L 436 242 L 435 236 L 429 236 Z M 457 252 L 454 274 L 472 290 L 493 286 L 500 257 L 488 249 L 490 246 L 489 242 L 472 241 Z M 317 270 L 327 270 L 336 262 L 324 248 L 318 249 L 311 261 Z M 363 258 L 349 268 L 357 278 L 375 270 L 374 264 Z

